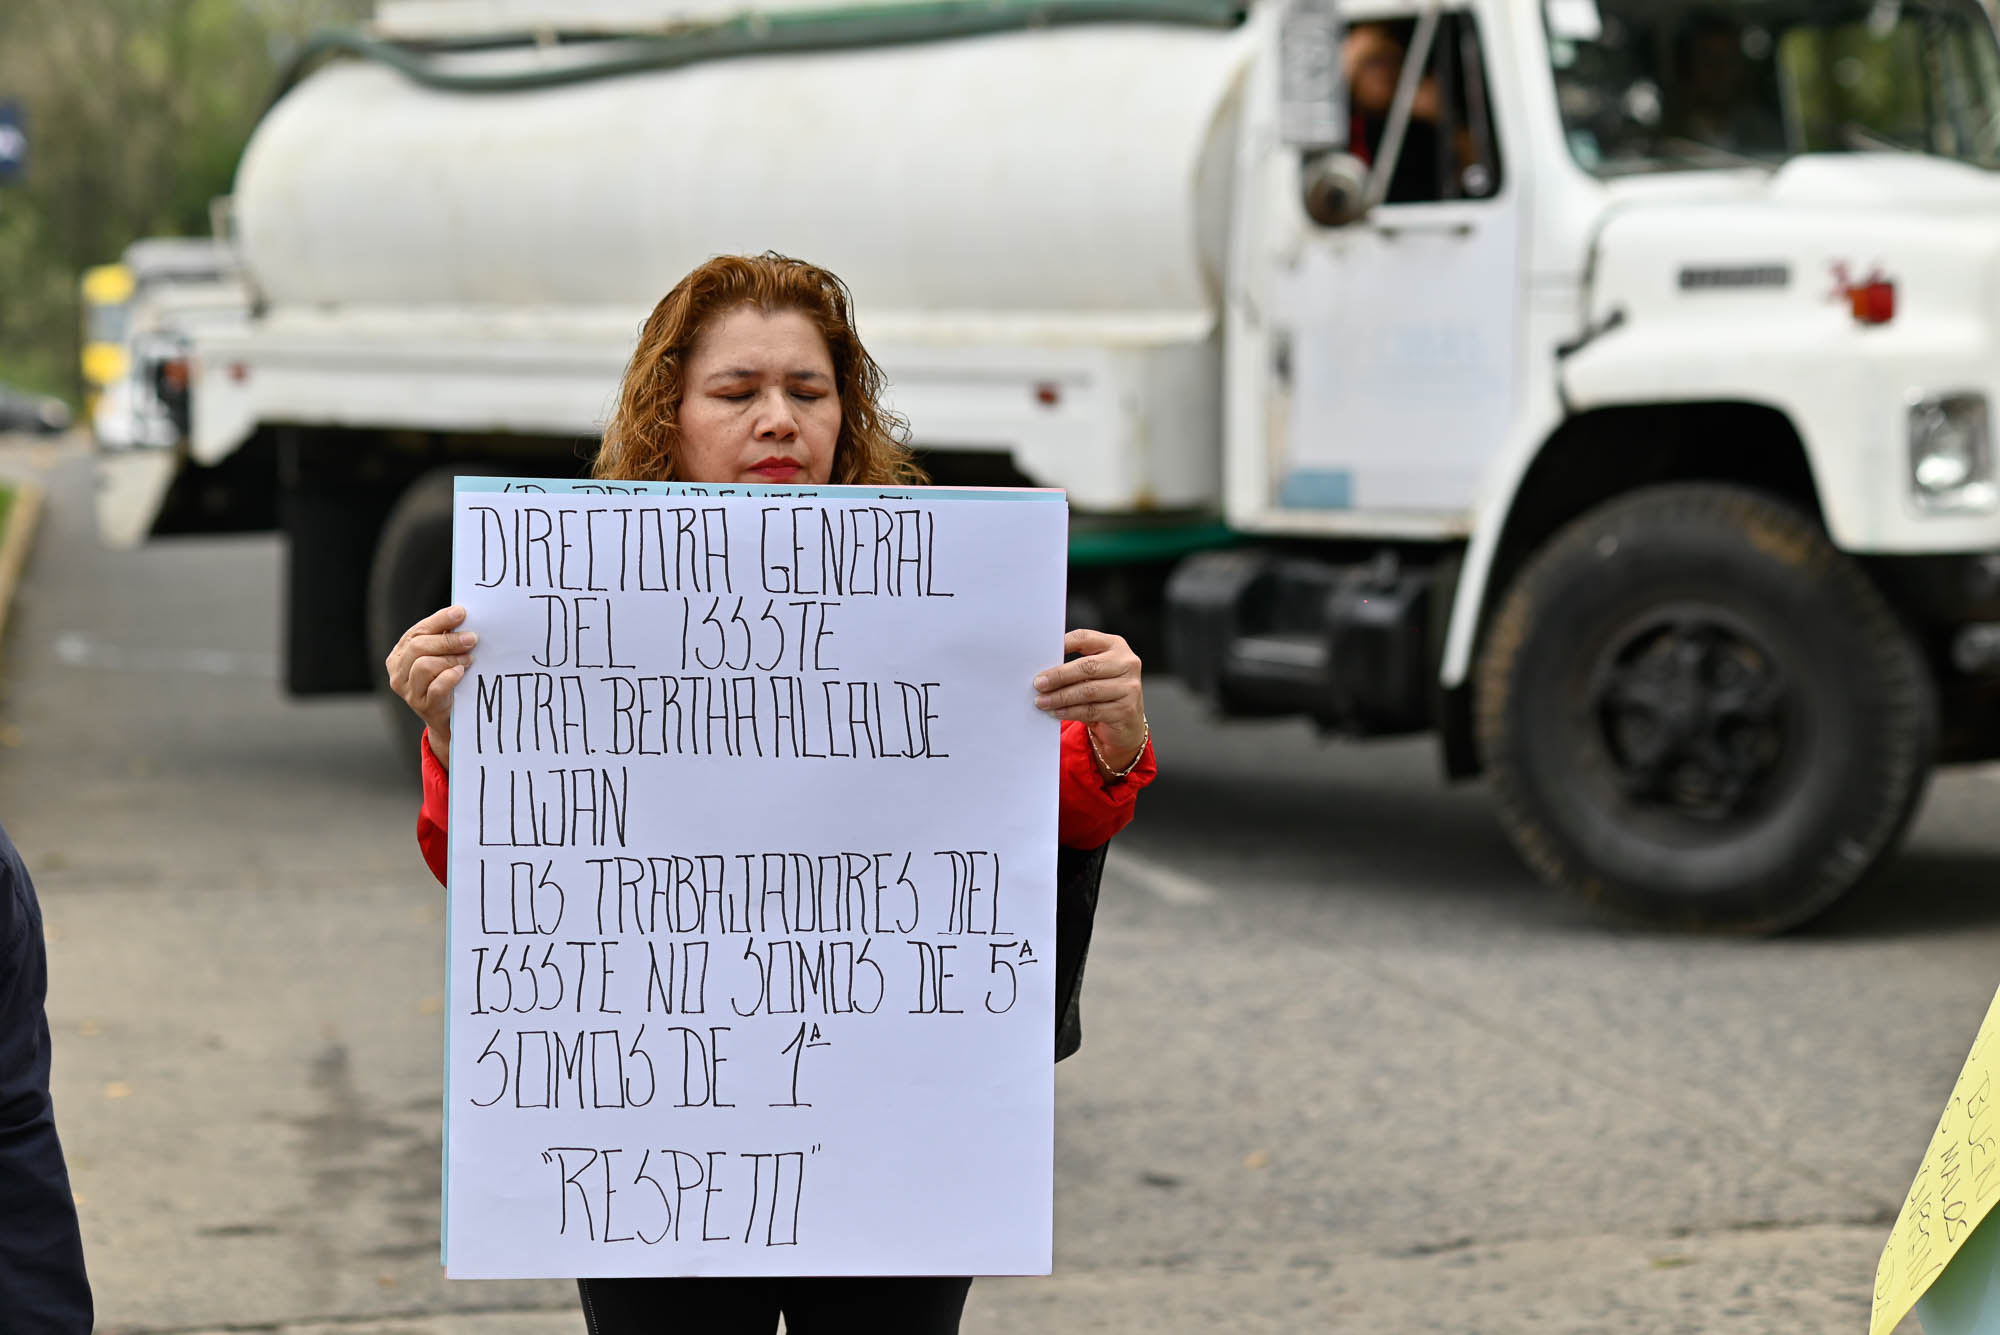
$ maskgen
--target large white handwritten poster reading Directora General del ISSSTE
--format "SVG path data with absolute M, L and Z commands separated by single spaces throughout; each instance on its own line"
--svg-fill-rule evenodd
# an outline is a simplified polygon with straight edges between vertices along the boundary
M 1048 1273 L 1066 526 L 458 482 L 452 1277 Z

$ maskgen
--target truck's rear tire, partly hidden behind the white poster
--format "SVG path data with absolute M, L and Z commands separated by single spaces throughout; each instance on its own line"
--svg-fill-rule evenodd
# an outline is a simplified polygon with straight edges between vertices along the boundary
M 418 620 L 452 602 L 452 480 L 440 468 L 412 482 L 382 522 L 368 568 L 368 652 L 390 739 L 410 773 L 418 767 L 424 719 L 388 687 L 382 662 Z

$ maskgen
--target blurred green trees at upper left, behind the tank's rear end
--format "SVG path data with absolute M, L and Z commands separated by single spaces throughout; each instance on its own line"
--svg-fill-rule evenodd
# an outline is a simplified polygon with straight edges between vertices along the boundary
M 284 58 L 370 0 L 0 0 L 0 98 L 30 160 L 0 188 L 0 382 L 76 392 L 82 272 L 202 236 Z

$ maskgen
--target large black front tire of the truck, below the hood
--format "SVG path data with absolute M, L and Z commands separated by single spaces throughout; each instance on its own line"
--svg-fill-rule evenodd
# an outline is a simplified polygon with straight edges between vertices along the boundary
M 1900 839 L 1936 695 L 1866 574 L 1780 500 L 1662 486 L 1586 514 L 1508 590 L 1474 715 L 1548 881 L 1656 927 L 1778 931 Z

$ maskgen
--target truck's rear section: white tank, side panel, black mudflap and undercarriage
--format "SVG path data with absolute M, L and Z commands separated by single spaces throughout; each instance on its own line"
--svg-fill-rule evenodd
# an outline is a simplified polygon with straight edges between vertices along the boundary
M 252 314 L 202 340 L 190 468 L 120 462 L 116 494 L 276 512 L 288 689 L 380 689 L 396 634 L 450 596 L 450 476 L 574 472 L 646 312 L 722 252 L 852 286 L 936 478 L 1060 486 L 1072 516 L 1214 540 L 1262 12 L 582 8 L 654 12 L 606 32 L 576 6 L 386 4 L 370 36 L 320 44 L 362 58 L 302 64 L 244 152 Z

